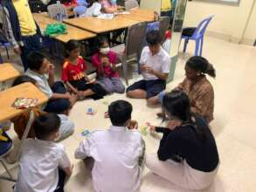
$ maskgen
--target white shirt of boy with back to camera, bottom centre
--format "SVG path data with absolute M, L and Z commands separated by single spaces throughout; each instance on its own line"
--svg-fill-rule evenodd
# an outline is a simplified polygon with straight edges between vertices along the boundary
M 75 158 L 92 157 L 93 188 L 96 192 L 135 192 L 140 188 L 144 141 L 137 131 L 110 127 L 89 134 L 75 152 Z

